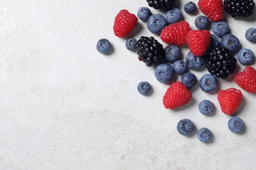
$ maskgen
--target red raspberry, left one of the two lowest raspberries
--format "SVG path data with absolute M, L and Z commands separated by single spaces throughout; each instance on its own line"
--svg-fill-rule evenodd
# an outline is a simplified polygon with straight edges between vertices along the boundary
M 181 82 L 173 82 L 163 95 L 163 105 L 166 109 L 175 109 L 186 105 L 190 101 L 192 93 L 181 84 Z

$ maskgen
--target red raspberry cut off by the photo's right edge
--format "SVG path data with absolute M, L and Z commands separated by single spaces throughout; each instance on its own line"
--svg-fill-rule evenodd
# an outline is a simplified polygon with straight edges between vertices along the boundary
M 253 67 L 245 67 L 244 71 L 234 76 L 234 80 L 246 92 L 256 93 L 256 70 Z

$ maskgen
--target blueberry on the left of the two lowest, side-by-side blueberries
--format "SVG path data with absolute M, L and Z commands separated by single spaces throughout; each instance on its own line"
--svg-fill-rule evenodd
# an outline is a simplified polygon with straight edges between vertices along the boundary
M 189 119 L 182 119 L 177 124 L 177 131 L 184 136 L 189 136 L 191 133 L 193 133 L 194 129 L 194 124 Z

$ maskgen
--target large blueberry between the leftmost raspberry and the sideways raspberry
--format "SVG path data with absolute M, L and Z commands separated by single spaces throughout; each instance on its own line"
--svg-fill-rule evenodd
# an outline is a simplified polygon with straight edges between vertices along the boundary
M 161 14 L 154 14 L 148 18 L 147 22 L 148 30 L 156 35 L 161 33 L 161 29 L 163 29 L 167 25 L 167 21 L 165 17 Z

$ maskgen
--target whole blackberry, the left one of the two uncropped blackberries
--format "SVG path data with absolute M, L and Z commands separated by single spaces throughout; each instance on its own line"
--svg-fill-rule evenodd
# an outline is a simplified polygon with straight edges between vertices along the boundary
M 148 67 L 158 65 L 164 58 L 163 45 L 154 37 L 140 37 L 136 44 L 139 60 L 146 63 Z

